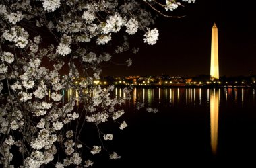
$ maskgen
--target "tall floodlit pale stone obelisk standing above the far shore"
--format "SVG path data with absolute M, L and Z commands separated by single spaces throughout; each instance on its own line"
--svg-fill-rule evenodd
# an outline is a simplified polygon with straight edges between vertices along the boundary
M 219 60 L 218 60 L 218 28 L 214 23 L 212 26 L 212 47 L 211 47 L 211 80 L 219 79 Z

